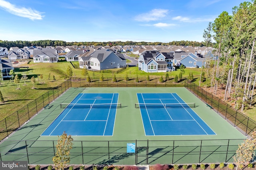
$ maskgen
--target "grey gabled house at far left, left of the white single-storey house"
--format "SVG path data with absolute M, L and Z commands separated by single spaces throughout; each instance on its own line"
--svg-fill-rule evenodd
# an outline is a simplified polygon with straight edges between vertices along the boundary
M 8 59 L 11 61 L 14 60 L 26 60 L 30 59 L 30 52 L 24 48 L 20 49 L 19 47 L 11 47 L 9 54 L 8 54 Z

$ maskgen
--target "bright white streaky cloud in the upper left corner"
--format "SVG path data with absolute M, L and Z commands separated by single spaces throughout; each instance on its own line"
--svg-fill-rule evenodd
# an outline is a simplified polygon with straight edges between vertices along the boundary
M 30 20 L 42 20 L 42 12 L 32 10 L 31 8 L 16 7 L 10 2 L 0 0 L 0 7 L 6 10 L 7 12 L 14 14 L 16 16 L 29 18 Z

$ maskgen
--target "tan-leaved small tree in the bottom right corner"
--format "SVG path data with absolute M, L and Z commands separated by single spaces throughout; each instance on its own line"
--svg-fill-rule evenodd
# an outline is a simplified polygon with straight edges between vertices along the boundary
M 252 133 L 252 139 L 246 139 L 244 143 L 238 145 L 238 149 L 236 150 L 234 158 L 234 162 L 236 162 L 236 170 L 237 168 L 243 168 L 247 166 L 254 158 L 254 148 L 256 147 L 256 131 Z

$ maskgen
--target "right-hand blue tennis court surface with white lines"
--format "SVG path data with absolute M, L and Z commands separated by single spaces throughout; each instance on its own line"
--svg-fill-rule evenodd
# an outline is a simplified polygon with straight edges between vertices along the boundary
M 146 136 L 216 135 L 176 93 L 137 93 L 137 97 Z

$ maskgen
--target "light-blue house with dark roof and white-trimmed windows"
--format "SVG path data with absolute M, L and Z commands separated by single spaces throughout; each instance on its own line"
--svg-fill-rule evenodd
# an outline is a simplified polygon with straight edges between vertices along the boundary
M 145 51 L 138 58 L 138 67 L 145 72 L 167 72 L 174 70 L 173 53 Z

